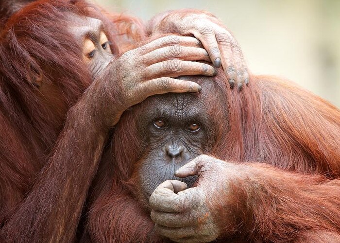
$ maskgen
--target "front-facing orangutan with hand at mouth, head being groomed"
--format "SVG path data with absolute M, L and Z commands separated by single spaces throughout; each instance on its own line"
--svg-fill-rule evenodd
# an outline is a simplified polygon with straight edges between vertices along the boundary
M 251 76 L 240 95 L 222 72 L 190 80 L 200 93 L 149 97 L 122 115 L 86 237 L 340 242 L 340 110 L 270 76 Z

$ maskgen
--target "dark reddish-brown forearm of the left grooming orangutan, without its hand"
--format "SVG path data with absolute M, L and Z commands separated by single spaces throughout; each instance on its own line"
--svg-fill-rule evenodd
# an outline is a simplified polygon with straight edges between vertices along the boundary
M 23 238 L 32 242 L 72 240 L 111 117 L 115 116 L 114 108 L 108 110 L 104 104 L 112 104 L 118 97 L 107 89 L 108 82 L 94 81 L 70 109 L 48 164 L 37 176 L 31 193 L 1 229 L 1 242 Z M 105 92 L 112 96 L 105 97 Z

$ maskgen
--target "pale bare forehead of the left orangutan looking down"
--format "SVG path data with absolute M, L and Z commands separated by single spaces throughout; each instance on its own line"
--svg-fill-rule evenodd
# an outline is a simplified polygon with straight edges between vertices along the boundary
M 97 18 L 70 14 L 67 20 L 69 32 L 80 42 L 88 35 L 99 35 L 102 30 L 102 21 Z

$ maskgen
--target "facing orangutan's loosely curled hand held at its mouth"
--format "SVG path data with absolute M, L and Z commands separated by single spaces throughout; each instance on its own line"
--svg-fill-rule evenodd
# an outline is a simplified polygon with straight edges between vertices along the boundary
M 184 182 L 167 180 L 150 197 L 151 219 L 156 233 L 174 242 L 210 242 L 221 234 L 221 210 L 231 206 L 229 183 L 235 174 L 234 164 L 201 155 L 175 172 L 177 177 L 198 174 L 196 187 Z M 228 176 L 230 175 L 230 177 Z M 231 218 L 233 217 L 230 215 Z M 225 225 L 232 226 L 231 221 Z

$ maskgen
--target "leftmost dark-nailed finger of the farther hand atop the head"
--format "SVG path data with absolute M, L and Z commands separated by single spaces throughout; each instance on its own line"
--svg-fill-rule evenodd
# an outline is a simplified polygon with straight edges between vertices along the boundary
M 221 52 L 216 40 L 213 27 L 204 27 L 199 32 L 192 31 L 192 34 L 202 42 L 204 49 L 209 53 L 210 60 L 215 67 L 221 67 Z

